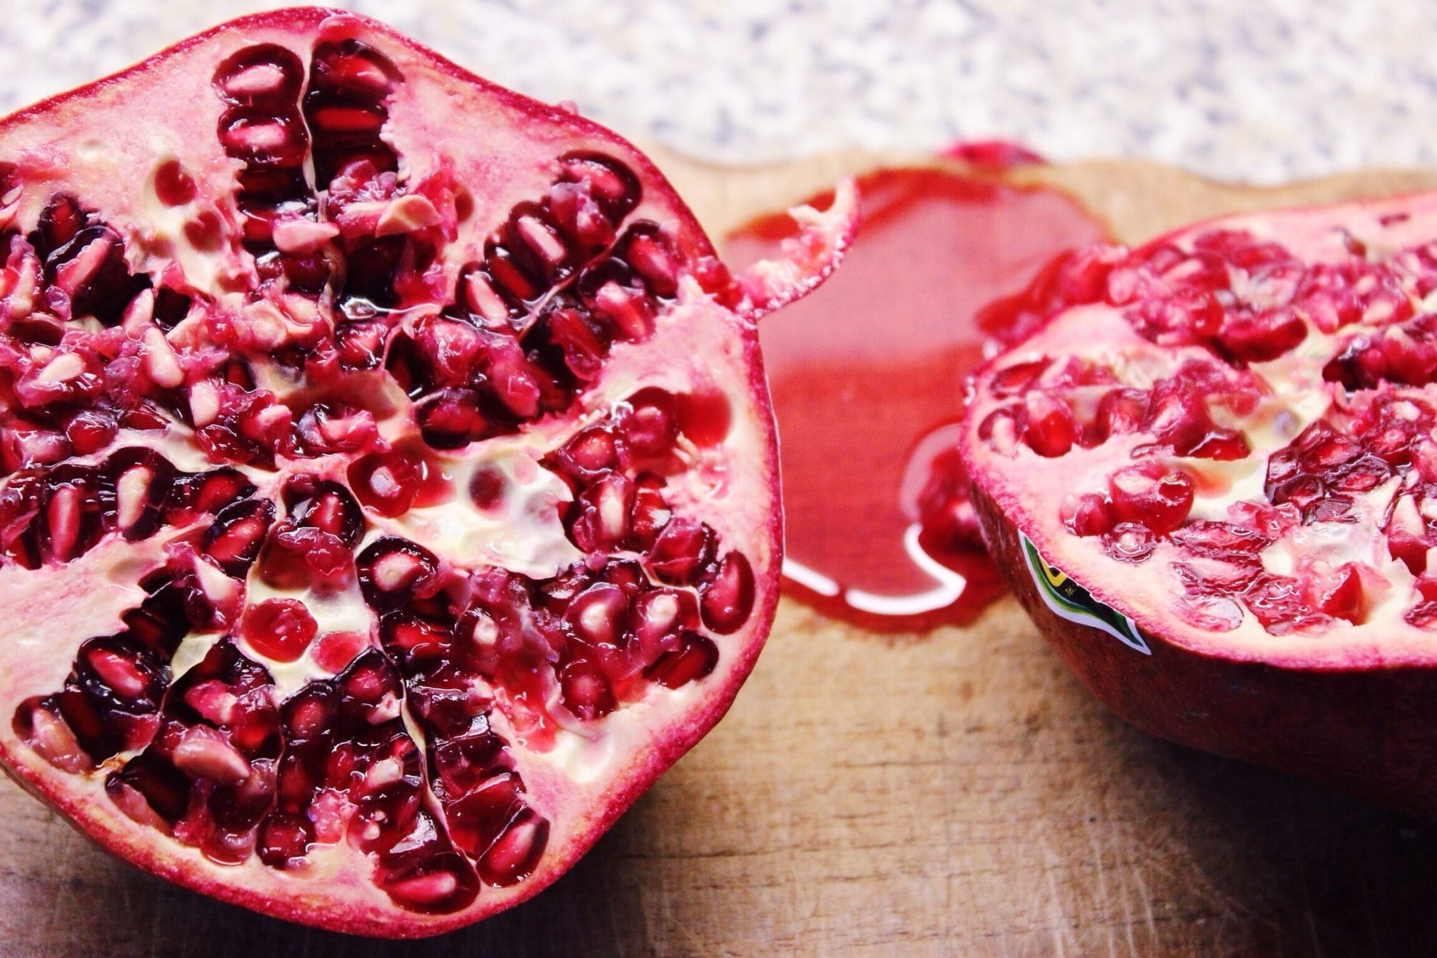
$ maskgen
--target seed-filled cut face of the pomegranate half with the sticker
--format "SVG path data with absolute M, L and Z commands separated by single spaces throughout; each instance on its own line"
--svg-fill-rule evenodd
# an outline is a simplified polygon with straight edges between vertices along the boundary
M 974 485 L 1180 646 L 1431 661 L 1437 195 L 1230 217 L 1083 263 L 1085 292 L 973 382 Z M 1114 483 L 1134 467 L 1165 493 Z

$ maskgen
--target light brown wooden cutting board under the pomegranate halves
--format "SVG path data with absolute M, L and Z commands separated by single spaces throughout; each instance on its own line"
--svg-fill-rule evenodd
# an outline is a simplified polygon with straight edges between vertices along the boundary
M 892 158 L 887 158 L 892 162 Z M 714 236 L 885 161 L 661 165 Z M 1252 190 L 1030 167 L 1125 241 L 1437 185 Z M 1437 949 L 1437 827 L 1108 715 L 1010 599 L 879 638 L 785 600 L 729 717 L 536 901 L 411 945 L 286 925 L 109 859 L 0 781 L 3 955 L 1400 955 Z

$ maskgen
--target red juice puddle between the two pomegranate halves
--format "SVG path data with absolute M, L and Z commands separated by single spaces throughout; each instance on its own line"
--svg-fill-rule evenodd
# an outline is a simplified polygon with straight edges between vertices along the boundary
M 1105 238 L 1066 194 L 938 169 L 859 180 L 862 223 L 838 271 L 762 320 L 779 422 L 787 592 L 867 628 L 973 620 L 999 573 L 954 510 L 963 381 L 993 323 L 1059 253 Z M 816 198 L 823 205 L 822 198 Z M 741 267 L 793 236 L 783 214 L 726 240 Z M 984 306 L 1015 297 L 1012 306 Z M 984 312 L 980 326 L 979 315 Z M 992 349 L 992 346 L 989 346 Z

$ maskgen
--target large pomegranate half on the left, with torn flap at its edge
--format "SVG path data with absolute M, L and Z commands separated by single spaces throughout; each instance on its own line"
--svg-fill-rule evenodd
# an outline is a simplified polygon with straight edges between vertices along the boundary
M 756 319 L 657 169 L 362 17 L 0 121 L 0 761 L 101 845 L 414 936 L 558 878 L 770 626 Z

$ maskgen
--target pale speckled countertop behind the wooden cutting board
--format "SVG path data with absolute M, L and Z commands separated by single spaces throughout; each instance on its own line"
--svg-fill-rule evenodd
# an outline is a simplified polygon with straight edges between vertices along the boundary
M 45 0 L 0 17 L 0 108 L 263 0 Z M 696 157 L 1007 138 L 1253 182 L 1437 164 L 1420 0 L 355 0 L 497 82 Z

